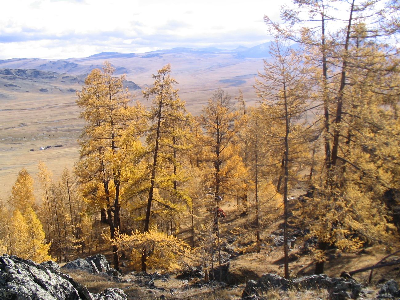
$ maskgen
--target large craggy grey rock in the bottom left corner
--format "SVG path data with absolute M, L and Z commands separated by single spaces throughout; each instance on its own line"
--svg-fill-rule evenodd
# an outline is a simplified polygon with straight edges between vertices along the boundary
M 0 299 L 2 300 L 125 300 L 119 289 L 92 294 L 69 275 L 58 271 L 57 264 L 36 264 L 17 256 L 0 256 Z M 113 298 L 114 297 L 114 298 Z

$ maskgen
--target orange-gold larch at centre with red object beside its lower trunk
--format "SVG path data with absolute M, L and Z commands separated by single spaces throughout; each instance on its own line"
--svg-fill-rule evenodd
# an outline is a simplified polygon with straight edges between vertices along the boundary
M 219 266 L 221 266 L 219 219 L 222 216 L 220 202 L 225 196 L 226 198 L 233 196 L 232 191 L 242 183 L 242 173 L 245 172 L 242 159 L 238 155 L 239 146 L 235 143 L 240 128 L 239 115 L 231 102 L 231 96 L 222 88 L 218 88 L 208 100 L 208 105 L 203 108 L 203 114 L 196 118 L 203 131 L 199 136 L 199 144 L 203 148 L 200 160 L 203 166 L 210 170 L 207 186 L 212 193 L 212 204 L 208 206 L 212 212 L 213 231 L 217 235 Z M 214 249 L 211 252 L 213 255 Z

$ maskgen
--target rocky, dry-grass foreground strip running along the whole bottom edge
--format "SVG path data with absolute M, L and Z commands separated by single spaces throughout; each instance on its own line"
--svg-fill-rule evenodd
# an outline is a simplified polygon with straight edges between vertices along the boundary
M 194 299 L 194 291 L 197 291 L 196 294 L 197 297 L 200 297 L 199 299 L 204 299 L 207 298 L 207 291 L 209 290 L 219 290 L 220 296 L 226 295 L 231 299 L 232 296 L 228 295 L 229 290 L 238 288 L 234 283 L 228 285 L 224 282 L 205 282 L 204 280 L 190 283 L 188 280 L 173 279 L 169 274 L 162 275 L 157 272 L 154 274 L 132 272 L 132 274 L 121 276 L 110 268 L 107 260 L 101 254 L 89 256 L 85 259 L 79 258 L 62 268 L 52 261 L 36 264 L 32 260 L 24 260 L 17 256 L 4 254 L 0 256 L 0 299 L 127 300 L 137 298 L 128 298 L 123 290 L 115 287 L 105 288 L 98 294 L 91 293 L 88 288 L 68 274 L 64 274 L 61 270 L 64 272 L 79 270 L 87 276 L 91 273 L 93 275 L 90 276 L 99 276 L 98 278 L 103 278 L 103 280 L 106 280 L 104 278 L 108 278 L 108 280 L 112 278 L 115 286 L 124 286 L 130 289 L 134 287 L 147 292 L 146 299 Z M 178 278 L 178 276 L 176 277 Z M 177 282 L 180 283 L 180 286 L 175 287 L 174 285 Z M 165 284 L 165 287 L 162 287 L 162 284 Z M 170 288 L 166 288 L 167 286 Z M 350 276 L 348 278 L 329 278 L 320 274 L 286 280 L 276 274 L 264 274 L 259 280 L 247 281 L 244 289 L 242 287 L 242 299 L 286 299 L 287 295 L 285 296 L 284 293 L 288 292 L 292 293 L 292 297 L 295 295 L 296 299 L 303 299 L 309 298 L 309 290 L 325 290 L 326 297 L 319 297 L 331 300 L 395 300 L 400 298 L 400 290 L 395 280 L 388 280 L 378 290 L 373 291 L 362 286 Z M 204 295 L 201 295 L 202 293 Z M 274 293 L 276 294 L 275 297 L 273 297 Z M 321 294 L 323 292 L 320 292 Z M 240 296 L 234 298 L 239 299 Z M 226 299 L 226 297 L 221 299 Z

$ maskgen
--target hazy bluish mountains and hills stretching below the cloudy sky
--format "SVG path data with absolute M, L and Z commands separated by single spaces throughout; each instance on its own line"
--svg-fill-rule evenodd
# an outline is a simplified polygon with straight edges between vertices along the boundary
M 215 47 L 156 50 L 146 53 L 102 52 L 84 58 L 47 60 L 12 58 L 0 60 L 0 100 L 29 99 L 40 95 L 75 97 L 84 78 L 94 68 L 110 61 L 115 75 L 126 74 L 125 86 L 140 90 L 152 83 L 152 74 L 167 63 L 172 75 L 190 93 L 188 100 L 201 90 L 217 87 L 252 90 L 254 76 L 270 58 L 270 42 L 251 48 L 239 46 L 226 50 Z M 70 94 L 67 96 L 66 94 Z

